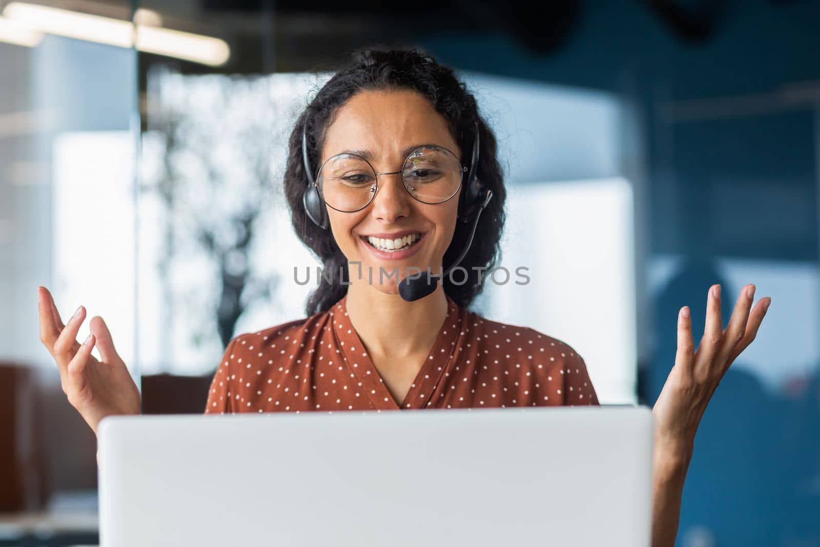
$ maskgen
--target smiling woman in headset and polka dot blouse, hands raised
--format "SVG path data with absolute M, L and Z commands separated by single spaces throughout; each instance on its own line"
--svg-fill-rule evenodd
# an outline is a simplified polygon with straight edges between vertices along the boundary
M 415 51 L 360 53 L 298 118 L 285 190 L 326 276 L 307 318 L 231 340 L 206 413 L 598 404 L 571 346 L 467 311 L 498 256 L 505 193 L 494 134 L 453 71 Z M 459 255 L 458 278 L 422 298 L 399 295 L 408 268 L 440 272 Z M 719 291 L 709 291 L 696 353 L 681 308 L 676 362 L 654 407 L 653 545 L 674 543 L 700 417 L 771 301 L 752 310 L 746 285 L 724 331 Z M 66 326 L 46 289 L 39 307 L 41 340 L 89 426 L 139 413 L 103 319 L 80 345 L 82 306 Z

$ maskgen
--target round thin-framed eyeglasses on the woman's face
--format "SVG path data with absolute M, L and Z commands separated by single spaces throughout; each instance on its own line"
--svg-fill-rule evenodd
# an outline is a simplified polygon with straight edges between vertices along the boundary
M 355 212 L 367 207 L 378 190 L 376 175 L 402 175 L 404 189 L 421 203 L 444 203 L 458 194 L 467 167 L 447 148 L 435 145 L 416 148 L 401 171 L 377 173 L 370 162 L 352 153 L 330 157 L 321 165 L 313 185 L 329 207 Z

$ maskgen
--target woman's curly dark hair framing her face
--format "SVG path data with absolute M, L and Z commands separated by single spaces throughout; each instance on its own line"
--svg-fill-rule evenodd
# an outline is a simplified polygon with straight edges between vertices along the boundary
M 326 129 L 349 98 L 364 90 L 413 89 L 430 100 L 449 122 L 453 138 L 462 150 L 462 164 L 469 163 L 469 153 L 478 124 L 480 157 L 477 177 L 484 188 L 493 191 L 493 198 L 481 212 L 476 235 L 469 252 L 459 266 L 467 272 L 467 281 L 461 285 L 452 283 L 444 276 L 444 293 L 459 306 L 467 308 L 484 288 L 488 272 L 499 259 L 499 240 L 503 229 L 506 191 L 503 172 L 497 158 L 496 139 L 490 127 L 481 118 L 476 98 L 467 86 L 458 80 L 453 70 L 440 65 L 426 52 L 417 48 L 389 49 L 367 48 L 353 53 L 353 57 L 316 93 L 304 112 L 298 116 L 289 139 L 288 163 L 285 170 L 285 196 L 291 212 L 294 230 L 303 243 L 311 248 L 324 268 L 320 285 L 307 299 L 305 312 L 308 316 L 325 312 L 347 294 L 347 258 L 330 232 L 315 225 L 305 212 L 302 197 L 307 186 L 302 157 L 302 134 L 307 133 L 308 157 L 316 166 L 321 156 Z M 467 151 L 467 157 L 463 157 Z M 461 200 L 466 185 L 462 185 Z M 444 253 L 444 267 L 458 257 L 469 238 L 471 223 L 458 221 L 453 240 Z M 485 267 L 485 270 L 481 270 Z M 339 277 L 341 276 L 341 277 Z M 462 274 L 456 276 L 462 281 Z

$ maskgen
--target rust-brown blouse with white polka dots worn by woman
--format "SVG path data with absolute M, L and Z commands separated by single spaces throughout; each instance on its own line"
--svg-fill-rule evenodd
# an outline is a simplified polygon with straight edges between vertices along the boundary
M 394 399 L 348 319 L 327 312 L 230 341 L 205 413 L 597 405 L 586 365 L 563 341 L 491 321 L 447 297 L 448 315 L 408 393 Z

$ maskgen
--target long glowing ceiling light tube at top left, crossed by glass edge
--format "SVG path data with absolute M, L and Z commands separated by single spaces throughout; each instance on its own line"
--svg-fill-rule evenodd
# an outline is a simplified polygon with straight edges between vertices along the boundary
M 30 30 L 119 48 L 134 45 L 134 25 L 130 21 L 25 2 L 11 2 L 3 15 Z M 230 57 L 230 48 L 224 40 L 148 25 L 136 25 L 136 48 L 209 66 L 223 65 Z

